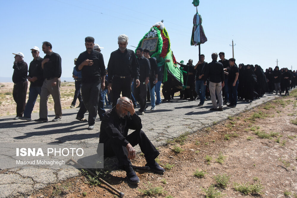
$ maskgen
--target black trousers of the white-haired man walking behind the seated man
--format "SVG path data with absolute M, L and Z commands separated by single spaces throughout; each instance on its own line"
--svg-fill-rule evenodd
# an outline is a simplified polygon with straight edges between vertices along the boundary
M 131 77 L 120 78 L 120 77 L 113 77 L 112 80 L 112 106 L 116 106 L 117 100 L 120 98 L 120 94 L 122 92 L 122 97 L 131 97 Z

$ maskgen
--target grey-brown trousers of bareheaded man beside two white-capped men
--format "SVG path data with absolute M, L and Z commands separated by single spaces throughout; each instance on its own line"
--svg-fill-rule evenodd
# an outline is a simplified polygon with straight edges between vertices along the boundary
M 56 86 L 52 87 L 53 79 L 44 80 L 41 87 L 39 117 L 48 118 L 48 97 L 52 95 L 56 118 L 62 117 L 60 86 L 61 79 L 58 78 Z

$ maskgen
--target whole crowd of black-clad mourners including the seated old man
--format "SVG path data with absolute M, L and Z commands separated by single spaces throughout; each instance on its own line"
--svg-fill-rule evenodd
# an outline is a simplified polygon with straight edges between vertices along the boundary
M 194 101 L 199 108 L 206 108 L 206 101 L 209 100 L 212 107 L 206 111 L 224 111 L 226 108 L 236 108 L 238 101 L 252 103 L 264 94 L 289 95 L 289 90 L 296 87 L 295 70 L 276 66 L 264 72 L 257 64 L 237 64 L 235 58 L 226 59 L 224 52 L 189 57 L 186 64 L 176 62 L 176 66 L 180 66 L 182 84 L 175 85 L 174 76 L 152 57 L 150 49 L 127 49 L 128 41 L 127 35 L 119 35 L 118 49 L 110 54 L 106 69 L 101 53 L 104 48 L 96 44 L 93 37 L 85 38 L 86 51 L 74 59 L 72 77 L 75 80 L 75 92 L 70 108 L 75 108 L 78 103 L 79 111 L 74 119 L 88 122 L 88 130 L 96 128 L 98 114 L 101 121 L 99 143 L 104 143 L 104 155 L 117 157 L 119 168 L 126 171 L 130 183 L 139 182 L 130 161 L 135 158 L 134 146 L 138 144 L 146 159 L 146 166 L 157 173 L 165 172 L 155 161 L 159 152 L 142 130 L 141 116 L 145 116 L 146 112 L 157 114 L 155 110 L 162 109 L 162 103 L 173 100 L 185 102 L 185 106 L 187 100 Z M 45 41 L 41 46 L 45 57 L 39 56 L 39 47 L 31 47 L 33 60 L 29 69 L 23 60 L 23 53 L 13 53 L 13 98 L 17 104 L 15 120 L 32 120 L 31 113 L 38 95 L 39 118 L 34 121 L 48 122 L 47 102 L 50 95 L 53 97 L 55 113 L 52 121 L 62 119 L 61 57 L 52 51 L 50 42 Z M 175 61 L 175 58 L 173 56 L 172 60 L 162 61 L 165 64 Z M 28 81 L 29 98 L 26 103 Z M 108 110 L 105 111 L 105 108 Z M 87 111 L 88 118 L 85 119 Z M 129 129 L 134 131 L 128 135 Z

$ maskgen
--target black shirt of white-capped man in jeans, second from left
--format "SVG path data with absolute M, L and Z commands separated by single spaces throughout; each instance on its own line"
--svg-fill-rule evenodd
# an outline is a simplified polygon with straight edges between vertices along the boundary
M 43 71 L 41 68 L 41 62 L 42 62 L 43 58 L 41 58 L 40 56 L 38 56 L 35 59 L 33 59 L 30 63 L 29 66 L 29 75 L 31 78 L 36 76 L 37 80 L 34 82 L 30 82 L 30 87 L 41 87 L 43 84 Z

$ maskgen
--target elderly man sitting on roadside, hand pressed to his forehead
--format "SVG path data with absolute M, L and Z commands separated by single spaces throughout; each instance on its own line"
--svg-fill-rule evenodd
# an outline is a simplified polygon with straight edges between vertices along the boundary
M 104 157 L 116 156 L 119 167 L 126 171 L 129 183 L 139 183 L 139 178 L 132 169 L 131 161 L 136 157 L 133 148 L 139 144 L 150 170 L 164 173 L 165 169 L 155 161 L 160 154 L 146 134 L 141 130 L 140 117 L 135 113 L 132 101 L 127 97 L 117 100 L 116 106 L 106 111 L 100 126 L 99 143 L 104 143 Z M 128 135 L 128 130 L 135 130 Z M 97 148 L 97 153 L 98 149 Z

